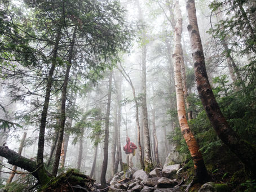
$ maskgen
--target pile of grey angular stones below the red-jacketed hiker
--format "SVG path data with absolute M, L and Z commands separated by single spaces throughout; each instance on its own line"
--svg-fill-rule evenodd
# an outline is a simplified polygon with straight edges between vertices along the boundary
M 176 180 L 176 173 L 180 169 L 180 164 L 166 166 L 163 169 L 155 168 L 149 174 L 140 169 L 129 178 L 129 175 L 120 172 L 112 178 L 109 191 L 184 191 L 186 186 L 180 186 L 181 182 Z

